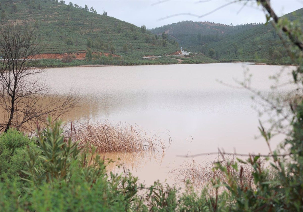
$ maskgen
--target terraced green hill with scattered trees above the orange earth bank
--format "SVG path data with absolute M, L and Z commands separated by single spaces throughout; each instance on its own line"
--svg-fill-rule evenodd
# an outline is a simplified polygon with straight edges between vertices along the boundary
M 66 5 L 58 0 L 0 0 L 0 11 L 1 24 L 32 25 L 38 31 L 38 43 L 45 46 L 43 53 L 73 53 L 91 48 L 92 52 L 113 53 L 135 61 L 147 55 L 169 55 L 179 49 L 175 40 L 155 36 L 145 26 L 140 28 L 107 14 L 99 15 L 87 5 Z

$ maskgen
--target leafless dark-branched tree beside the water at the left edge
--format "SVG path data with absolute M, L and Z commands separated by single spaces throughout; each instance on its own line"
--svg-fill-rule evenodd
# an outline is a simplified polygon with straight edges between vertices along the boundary
M 59 118 L 77 104 L 76 95 L 51 94 L 41 80 L 42 69 L 34 57 L 41 52 L 29 26 L 5 25 L 0 31 L 0 131 L 32 131 L 47 115 Z

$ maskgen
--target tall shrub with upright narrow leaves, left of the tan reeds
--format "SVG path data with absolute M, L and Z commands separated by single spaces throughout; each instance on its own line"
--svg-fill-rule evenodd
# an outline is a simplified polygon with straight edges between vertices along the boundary
M 71 178 L 72 162 L 77 160 L 79 149 L 78 142 L 72 144 L 71 139 L 67 141 L 62 135 L 61 121 L 52 123 L 48 117 L 48 126 L 45 130 L 37 129 L 37 142 L 41 153 L 28 148 L 29 160 L 28 171 L 24 171 L 31 177 L 31 182 L 38 186 L 42 182 L 52 183 L 56 181 L 68 182 Z M 41 160 L 41 166 L 36 167 L 37 161 Z

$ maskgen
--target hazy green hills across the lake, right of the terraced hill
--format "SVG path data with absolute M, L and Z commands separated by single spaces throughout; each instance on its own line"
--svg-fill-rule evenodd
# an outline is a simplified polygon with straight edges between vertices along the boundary
M 294 26 L 303 23 L 303 8 L 289 13 L 283 18 L 294 21 Z M 271 23 L 246 23 L 223 25 L 212 22 L 183 21 L 151 30 L 160 34 L 165 31 L 175 38 L 182 48 L 225 61 L 254 61 L 268 64 L 290 64 L 282 40 Z M 286 36 L 283 37 L 283 40 Z M 286 40 L 287 43 L 287 40 Z

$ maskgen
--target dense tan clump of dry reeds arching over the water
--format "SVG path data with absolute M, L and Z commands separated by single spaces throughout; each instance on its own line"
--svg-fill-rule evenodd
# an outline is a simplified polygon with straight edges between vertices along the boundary
M 80 141 L 79 147 L 88 151 L 92 146 L 97 152 L 165 152 L 166 147 L 157 134 L 149 136 L 138 126 L 122 123 L 114 124 L 104 122 L 85 122 L 76 127 L 72 134 L 73 141 Z M 170 140 L 170 137 L 169 137 Z M 171 140 L 170 140 L 171 141 Z

